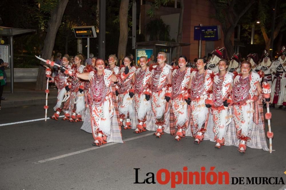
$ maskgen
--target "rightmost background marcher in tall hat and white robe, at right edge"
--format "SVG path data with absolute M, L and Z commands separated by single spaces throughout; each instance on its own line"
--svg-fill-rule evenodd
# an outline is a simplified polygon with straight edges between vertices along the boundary
M 278 60 L 274 61 L 271 66 L 273 71 L 274 80 L 271 86 L 271 107 L 275 107 L 275 104 L 279 105 L 279 108 L 283 108 L 283 97 L 286 94 L 286 47 L 283 46 L 277 54 Z

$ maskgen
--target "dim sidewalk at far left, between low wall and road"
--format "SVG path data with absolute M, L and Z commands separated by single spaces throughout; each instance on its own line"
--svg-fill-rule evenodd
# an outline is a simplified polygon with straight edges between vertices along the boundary
M 11 94 L 10 83 L 4 87 L 3 97 L 7 100 L 1 101 L 1 108 L 25 106 L 25 105 L 45 105 L 45 91 L 35 91 L 36 82 L 16 82 L 14 83 L 14 93 Z M 49 87 L 50 93 L 48 103 L 56 103 L 57 89 Z

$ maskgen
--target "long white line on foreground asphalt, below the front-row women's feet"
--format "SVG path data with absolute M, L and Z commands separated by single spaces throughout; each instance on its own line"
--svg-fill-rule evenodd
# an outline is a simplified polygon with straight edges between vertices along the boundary
M 129 140 L 134 140 L 134 139 L 137 139 L 137 138 L 142 138 L 142 137 L 145 137 L 145 136 L 150 136 L 152 134 L 153 134 L 153 132 L 152 133 L 148 133 L 148 134 L 144 134 L 144 135 L 140 135 L 140 136 L 136 136 L 136 137 L 132 137 L 132 138 L 127 138 L 127 139 L 124 140 L 124 142 L 129 141 Z M 118 142 L 111 142 L 111 143 L 107 143 L 107 144 L 102 145 L 102 146 L 96 146 L 96 147 L 87 148 L 87 149 L 84 149 L 84 150 L 79 150 L 79 151 L 76 151 L 76 152 L 71 152 L 71 153 L 68 153 L 68 154 L 63 154 L 61 156 L 56 156 L 56 157 L 53 157 L 53 158 L 48 158 L 48 159 L 45 159 L 45 160 L 40 160 L 40 161 L 37 161 L 37 162 L 33 162 L 33 164 L 40 164 L 40 163 L 44 163 L 44 162 L 49 162 L 51 160 L 57 160 L 57 159 L 64 158 L 64 157 L 67 157 L 67 156 L 80 154 L 80 153 L 87 152 L 87 151 L 90 151 L 90 150 L 95 150 L 95 149 L 98 149 L 98 148 L 104 148 L 104 147 L 107 147 L 107 146 L 110 146 L 110 145 L 114 145 L 114 144 L 118 144 Z

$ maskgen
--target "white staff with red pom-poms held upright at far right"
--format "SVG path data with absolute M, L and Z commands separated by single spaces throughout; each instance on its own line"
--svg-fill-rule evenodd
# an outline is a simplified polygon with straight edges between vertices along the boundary
M 267 82 L 262 83 L 262 93 L 263 93 L 262 99 L 266 102 L 266 108 L 267 108 L 265 119 L 267 119 L 268 121 L 267 138 L 269 138 L 269 152 L 272 153 L 272 138 L 274 134 L 273 132 L 271 132 L 271 125 L 270 125 L 270 120 L 271 120 L 272 115 L 271 115 L 271 112 L 269 111 L 269 101 L 270 101 L 270 94 L 271 94 L 271 87 L 269 83 Z

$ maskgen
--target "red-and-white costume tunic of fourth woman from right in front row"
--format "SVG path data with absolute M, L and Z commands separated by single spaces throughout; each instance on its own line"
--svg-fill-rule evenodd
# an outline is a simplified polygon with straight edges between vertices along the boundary
M 174 125 L 180 128 L 187 128 L 184 124 L 189 120 L 190 107 L 185 101 L 185 96 L 188 96 L 187 86 L 190 81 L 190 75 L 191 68 L 186 68 L 183 72 L 180 69 L 173 71 L 172 108 L 175 116 Z

